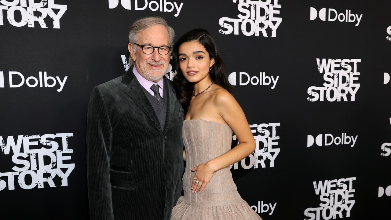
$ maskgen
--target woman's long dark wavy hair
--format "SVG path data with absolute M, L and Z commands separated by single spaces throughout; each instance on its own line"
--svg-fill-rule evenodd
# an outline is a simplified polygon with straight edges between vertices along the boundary
M 173 84 L 176 89 L 176 96 L 178 97 L 179 102 L 182 104 L 183 109 L 185 109 L 186 112 L 188 106 L 190 105 L 193 84 L 187 81 L 185 76 L 183 76 L 181 68 L 179 68 L 178 50 L 180 45 L 190 41 L 197 41 L 203 45 L 206 51 L 209 53 L 209 57 L 215 59 L 215 63 L 213 64 L 209 74 L 212 82 L 221 86 L 222 88 L 225 88 L 228 92 L 233 94 L 233 88 L 228 82 L 228 74 L 225 71 L 224 61 L 220 56 L 220 51 L 217 48 L 212 36 L 204 29 L 191 30 L 186 34 L 183 34 L 183 36 L 178 39 L 172 48 L 172 68 L 177 72 L 177 74 L 174 76 Z

